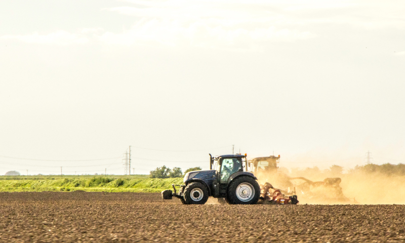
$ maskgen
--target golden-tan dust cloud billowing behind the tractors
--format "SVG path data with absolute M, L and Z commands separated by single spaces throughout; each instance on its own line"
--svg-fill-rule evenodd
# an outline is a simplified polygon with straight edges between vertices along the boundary
M 390 166 L 395 170 L 395 165 Z M 343 167 L 336 165 L 323 171 L 317 167 L 279 168 L 275 173 L 255 175 L 259 184 L 269 182 L 275 188 L 290 189 L 291 193 L 295 188 L 300 204 L 405 204 L 405 175 L 365 170 L 369 167 L 356 167 L 347 173 L 342 173 Z M 341 181 L 335 178 L 341 178 Z

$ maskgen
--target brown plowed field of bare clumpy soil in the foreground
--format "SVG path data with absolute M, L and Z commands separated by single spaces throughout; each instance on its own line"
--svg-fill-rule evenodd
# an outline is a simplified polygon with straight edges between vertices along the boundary
M 159 193 L 0 193 L 1 242 L 403 242 L 403 205 L 182 205 Z

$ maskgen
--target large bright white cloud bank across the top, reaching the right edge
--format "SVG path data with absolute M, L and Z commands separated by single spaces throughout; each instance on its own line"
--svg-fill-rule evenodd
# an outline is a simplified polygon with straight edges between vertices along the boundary
M 392 3 L 373 1 L 291 0 L 123 0 L 132 6 L 105 9 L 134 16 L 137 22 L 120 33 L 104 33 L 112 44 L 156 43 L 208 48 L 261 49 L 270 42 L 314 38 L 319 25 L 355 28 L 405 28 Z M 396 10 L 396 11 L 393 11 Z M 153 43 L 153 44 L 152 44 Z

